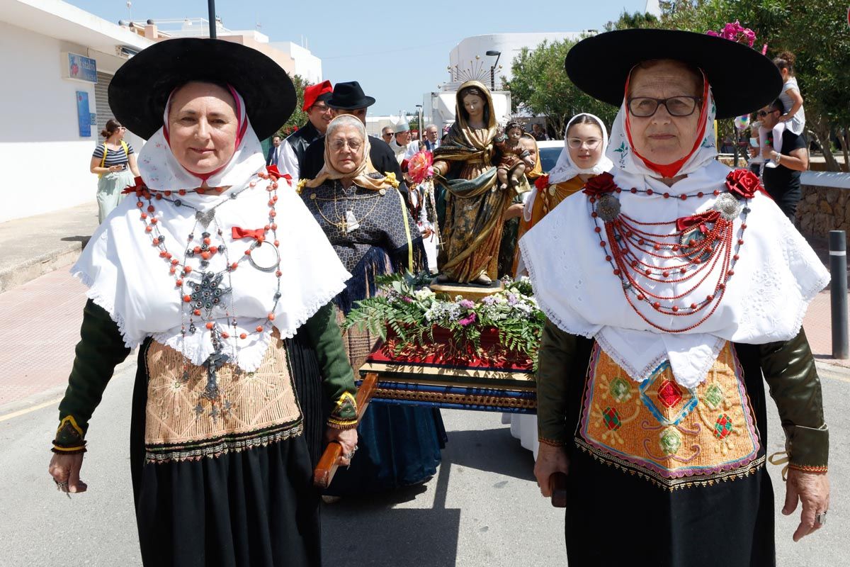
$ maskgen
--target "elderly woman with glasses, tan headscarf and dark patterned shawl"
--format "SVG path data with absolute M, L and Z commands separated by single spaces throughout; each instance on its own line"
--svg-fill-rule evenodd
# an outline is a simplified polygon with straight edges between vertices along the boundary
M 377 276 L 426 265 L 422 237 L 397 189 L 393 173 L 377 172 L 369 159 L 363 122 L 341 115 L 328 125 L 325 166 L 306 181 L 301 198 L 324 230 L 351 278 L 334 302 L 342 319 L 361 299 L 377 294 Z M 354 369 L 377 343 L 368 331 L 343 337 Z M 326 490 L 348 496 L 424 482 L 436 472 L 445 429 L 439 410 L 372 403 L 358 427 L 359 449 Z

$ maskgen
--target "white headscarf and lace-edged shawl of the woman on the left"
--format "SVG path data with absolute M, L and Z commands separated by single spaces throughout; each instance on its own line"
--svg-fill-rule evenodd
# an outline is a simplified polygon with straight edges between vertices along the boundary
M 181 299 L 186 283 L 182 290 L 175 286 L 175 278 L 168 272 L 168 261 L 160 258 L 157 247 L 151 246 L 150 234 L 144 230 L 139 211 L 155 216 L 168 252 L 173 253 L 178 265 L 192 268 L 189 275 L 184 275 L 184 281 L 195 281 L 201 271 L 227 274 L 225 283 L 232 291 L 222 303 L 224 307 L 215 308 L 214 316 L 220 327 L 229 328 L 230 337 L 224 342 L 230 360 L 245 371 L 253 371 L 262 362 L 270 341 L 273 327 L 265 323 L 275 306 L 275 292 L 280 292 L 280 299 L 274 308 L 273 324 L 280 337 L 288 338 L 341 292 L 351 275 L 301 197 L 292 190 L 278 191 L 275 205 L 275 238 L 279 241 L 276 249 L 283 272 L 280 287 L 274 269 L 261 271 L 248 261 L 242 261 L 232 272 L 225 271 L 227 262 L 239 260 L 252 243 L 250 239 L 234 239 L 232 227 L 254 230 L 269 224 L 271 195 L 266 190 L 270 180 L 257 175 L 265 166 L 259 139 L 248 121 L 241 96 L 231 92 L 236 100 L 241 135 L 237 136 L 230 162 L 207 179 L 210 187 L 229 185 L 229 189 L 221 193 L 206 190 L 203 194 L 192 191 L 201 185 L 201 177 L 179 165 L 168 147 L 164 127 L 151 137 L 142 150 L 143 156 L 139 157 L 142 179 L 150 189 L 171 190 L 168 199 L 179 199 L 200 212 L 215 207 L 213 221 L 206 230 L 213 235 L 212 244 L 218 245 L 221 239 L 226 252 L 212 255 L 209 266 L 200 269 L 201 258 L 185 258 L 187 236 L 194 234 L 196 242 L 201 236 L 198 233 L 205 230 L 196 222 L 195 211 L 161 199 L 152 201 L 155 213 L 146 213 L 146 207 L 140 209 L 138 198 L 131 194 L 94 232 L 71 273 L 89 287 L 88 298 L 116 321 L 127 347 L 134 348 L 146 337 L 153 337 L 182 352 L 193 364 L 201 365 L 212 354 L 211 332 L 196 322 L 198 328 L 194 333 L 185 337 L 181 333 L 181 327 L 187 323 L 187 308 Z M 285 183 L 284 179 L 279 183 Z M 178 196 L 180 189 L 189 191 Z M 146 206 L 146 201 L 142 202 Z M 222 231 L 220 237 L 217 229 Z M 263 248 L 268 249 L 272 240 L 269 232 Z M 235 329 L 229 326 L 233 320 Z M 256 332 L 257 326 L 263 326 L 263 331 Z M 243 332 L 247 335 L 244 340 L 239 338 Z

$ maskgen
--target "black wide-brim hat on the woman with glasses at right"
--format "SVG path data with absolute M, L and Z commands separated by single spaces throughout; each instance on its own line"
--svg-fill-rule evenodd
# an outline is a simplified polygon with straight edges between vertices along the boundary
M 607 31 L 576 43 L 564 67 L 576 87 L 620 106 L 634 66 L 662 59 L 682 61 L 706 73 L 717 118 L 757 111 L 782 91 L 782 76 L 773 61 L 743 43 L 693 31 Z

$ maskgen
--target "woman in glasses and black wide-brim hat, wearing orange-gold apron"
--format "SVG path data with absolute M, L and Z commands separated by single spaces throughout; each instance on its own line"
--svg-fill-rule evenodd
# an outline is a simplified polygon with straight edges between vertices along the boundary
M 570 564 L 774 565 L 762 376 L 785 429 L 783 512 L 802 502 L 796 541 L 829 507 L 801 328 L 829 275 L 757 177 L 717 162 L 712 122 L 768 104 L 779 73 L 740 43 L 668 30 L 587 38 L 566 70 L 620 106 L 614 169 L 519 242 L 548 318 L 535 473 L 545 496 L 568 475 Z

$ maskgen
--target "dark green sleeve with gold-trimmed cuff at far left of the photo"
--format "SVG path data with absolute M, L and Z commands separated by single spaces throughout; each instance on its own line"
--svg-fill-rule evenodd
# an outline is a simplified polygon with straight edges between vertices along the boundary
M 88 420 L 100 403 L 115 367 L 130 354 L 116 322 L 91 299 L 82 309 L 76 354 L 65 397 L 59 403 L 54 452 L 84 451 Z

